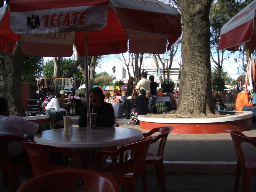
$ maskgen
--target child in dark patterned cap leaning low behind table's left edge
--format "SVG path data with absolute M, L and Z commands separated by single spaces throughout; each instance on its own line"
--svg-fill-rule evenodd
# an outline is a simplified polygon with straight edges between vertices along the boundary
M 61 112 L 56 112 L 52 116 L 52 121 L 49 121 L 46 124 L 42 125 L 44 131 L 50 130 L 50 129 L 60 129 L 64 128 L 64 121 L 63 121 L 63 115 Z

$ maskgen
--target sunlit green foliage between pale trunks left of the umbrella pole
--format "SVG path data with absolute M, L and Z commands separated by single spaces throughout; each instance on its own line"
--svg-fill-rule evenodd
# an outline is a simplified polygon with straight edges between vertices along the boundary
M 61 65 L 61 76 L 63 76 L 66 71 L 68 70 L 69 66 L 71 66 L 72 64 L 74 64 L 76 61 L 70 58 L 63 58 L 63 62 Z M 53 60 L 47 60 L 44 64 L 44 69 L 43 69 L 43 77 L 44 78 L 52 78 L 53 77 L 53 70 L 54 70 L 54 65 L 53 65 Z M 82 73 L 80 71 L 80 69 L 77 67 L 77 69 L 75 70 L 75 76 L 79 79 L 81 79 L 83 81 L 83 76 Z M 83 83 L 83 82 L 82 82 Z

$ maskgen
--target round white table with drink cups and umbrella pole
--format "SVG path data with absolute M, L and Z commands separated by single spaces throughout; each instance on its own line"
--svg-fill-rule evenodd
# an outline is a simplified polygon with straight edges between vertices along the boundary
M 102 148 L 125 145 L 139 141 L 143 133 L 137 129 L 123 127 L 101 127 L 92 129 L 87 134 L 86 127 L 73 128 L 72 132 L 64 129 L 52 129 L 37 133 L 34 141 L 39 144 L 65 148 Z

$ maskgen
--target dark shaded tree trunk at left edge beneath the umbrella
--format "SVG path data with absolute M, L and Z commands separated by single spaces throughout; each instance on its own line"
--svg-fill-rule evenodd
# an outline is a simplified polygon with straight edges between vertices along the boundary
M 12 55 L 0 52 L 0 96 L 8 101 L 10 115 L 25 116 L 21 103 L 21 69 L 24 54 L 20 42 Z

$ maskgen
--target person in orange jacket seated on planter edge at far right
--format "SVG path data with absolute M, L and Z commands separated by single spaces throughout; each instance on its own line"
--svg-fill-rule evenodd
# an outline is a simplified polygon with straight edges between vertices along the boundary
M 256 109 L 253 107 L 252 103 L 249 105 L 249 90 L 244 89 L 244 91 L 237 94 L 235 108 L 236 111 L 252 111 L 253 116 L 256 117 Z

